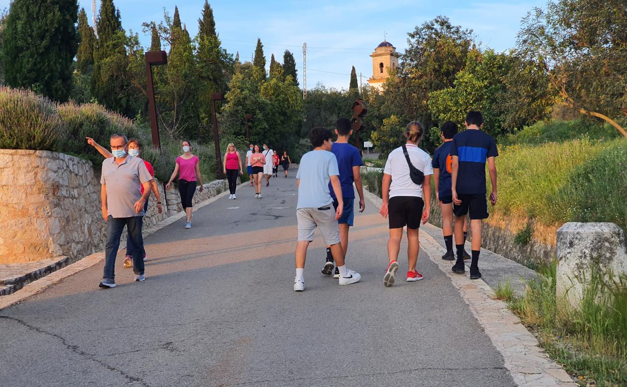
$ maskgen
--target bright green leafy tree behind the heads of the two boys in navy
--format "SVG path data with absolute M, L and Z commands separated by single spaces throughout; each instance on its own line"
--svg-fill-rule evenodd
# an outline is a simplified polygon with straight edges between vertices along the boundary
M 466 56 L 465 68 L 455 75 L 453 87 L 429 93 L 429 110 L 438 122 L 451 120 L 460 125 L 468 111 L 480 110 L 485 120 L 484 130 L 495 137 L 504 134 L 498 104 L 505 94 L 504 81 L 511 62 L 507 54 L 473 48 Z M 437 142 L 438 130 L 435 135 L 431 140 Z

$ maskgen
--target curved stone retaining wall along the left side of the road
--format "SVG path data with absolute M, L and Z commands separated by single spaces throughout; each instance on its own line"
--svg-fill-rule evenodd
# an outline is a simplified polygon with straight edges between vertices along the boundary
M 182 211 L 178 190 L 157 181 L 164 211 L 151 194 L 144 226 Z M 198 188 L 194 204 L 228 189 L 226 180 Z M 92 163 L 50 151 L 0 149 L 0 263 L 67 256 L 71 262 L 103 250 L 100 176 Z M 126 233 L 122 233 L 122 242 Z

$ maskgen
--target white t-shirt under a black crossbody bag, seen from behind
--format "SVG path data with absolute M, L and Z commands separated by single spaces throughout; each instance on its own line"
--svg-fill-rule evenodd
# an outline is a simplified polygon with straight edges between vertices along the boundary
M 431 167 L 431 156 L 424 152 L 418 146 L 406 144 L 409 160 L 414 167 L 424 173 L 425 179 L 428 175 L 433 174 Z M 390 185 L 390 198 L 394 196 L 418 196 L 423 197 L 423 186 L 411 181 L 409 177 L 409 166 L 403 154 L 403 147 L 398 147 L 390 152 L 387 156 L 386 167 L 383 173 L 392 176 L 392 184 Z

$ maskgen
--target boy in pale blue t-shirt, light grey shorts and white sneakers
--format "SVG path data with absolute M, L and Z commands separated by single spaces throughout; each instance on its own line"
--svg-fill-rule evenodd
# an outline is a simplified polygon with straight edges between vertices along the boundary
M 296 245 L 296 278 L 294 290 L 305 290 L 305 257 L 307 247 L 314 240 L 314 231 L 320 230 L 325 244 L 330 245 L 331 253 L 340 272 L 340 285 L 349 285 L 361 279 L 359 273 L 348 270 L 344 265 L 344 253 L 340 245 L 340 231 L 337 220 L 342 216 L 342 188 L 337 159 L 330 152 L 333 141 L 329 129 L 315 127 L 309 133 L 309 140 L 314 150 L 301 157 L 296 174 L 298 186 L 298 204 L 296 218 L 298 225 L 298 243 Z M 329 183 L 337 195 L 339 205 L 333 211 L 333 199 L 329 193 Z

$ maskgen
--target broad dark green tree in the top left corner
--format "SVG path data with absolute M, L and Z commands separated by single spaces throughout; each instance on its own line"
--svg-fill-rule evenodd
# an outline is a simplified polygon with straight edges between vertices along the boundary
M 78 48 L 76 0 L 14 0 L 6 19 L 6 82 L 64 102 Z

